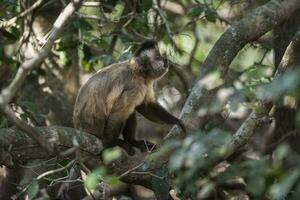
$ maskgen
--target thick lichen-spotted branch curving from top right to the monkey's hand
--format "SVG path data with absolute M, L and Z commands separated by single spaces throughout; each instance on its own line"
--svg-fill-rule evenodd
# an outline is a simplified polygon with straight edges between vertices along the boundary
M 212 98 L 216 96 L 206 90 L 205 85 L 202 84 L 203 78 L 217 69 L 221 71 L 223 78 L 226 77 L 231 62 L 247 43 L 255 41 L 266 32 L 272 30 L 288 17 L 292 16 L 299 8 L 300 4 L 298 0 L 269 1 L 265 5 L 255 9 L 252 13 L 249 13 L 222 34 L 201 66 L 199 77 L 182 109 L 181 118 L 187 124 L 187 128 L 197 129 L 197 127 L 190 126 L 190 119 L 194 117 L 193 114 L 196 113 L 203 103 L 211 102 Z M 215 94 L 216 92 L 217 90 L 213 91 Z M 260 118 L 257 115 L 250 115 L 250 117 L 252 119 Z M 253 127 L 256 127 L 256 122 L 249 121 L 249 123 Z M 181 129 L 178 127 L 173 127 L 167 138 L 180 138 L 180 131 Z M 150 160 L 150 166 L 152 168 L 159 167 L 168 161 L 170 154 L 171 152 L 167 152 L 155 160 Z

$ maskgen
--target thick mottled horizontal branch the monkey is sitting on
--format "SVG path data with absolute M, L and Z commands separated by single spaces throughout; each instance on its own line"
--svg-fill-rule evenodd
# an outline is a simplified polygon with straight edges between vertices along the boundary
M 101 141 L 94 135 L 78 131 L 68 127 L 36 127 L 36 129 L 49 140 L 54 141 L 60 152 L 68 151 L 74 147 L 74 140 L 79 145 L 76 148 L 82 157 L 99 161 L 100 153 L 103 150 Z M 78 154 L 77 154 L 78 155 Z M 23 131 L 15 128 L 0 129 L 0 165 L 10 166 L 13 161 L 24 161 L 31 159 L 46 159 L 58 156 L 57 152 L 48 153 L 35 141 L 29 138 Z M 75 154 L 68 155 L 75 157 Z M 122 159 L 112 164 L 112 171 L 118 175 L 122 181 L 143 185 L 151 188 L 151 176 L 134 174 L 141 170 L 144 161 L 141 155 L 136 155 L 130 159 Z

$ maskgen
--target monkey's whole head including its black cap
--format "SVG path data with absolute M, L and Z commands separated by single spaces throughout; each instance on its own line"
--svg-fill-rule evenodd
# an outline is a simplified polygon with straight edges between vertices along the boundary
M 168 72 L 167 60 L 160 55 L 155 41 L 148 40 L 142 43 L 134 56 L 139 71 L 146 78 L 157 79 Z

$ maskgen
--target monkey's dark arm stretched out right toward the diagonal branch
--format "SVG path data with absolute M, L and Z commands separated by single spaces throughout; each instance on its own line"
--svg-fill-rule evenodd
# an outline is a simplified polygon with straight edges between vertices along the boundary
M 166 111 L 157 102 L 143 103 L 136 107 L 136 110 L 147 119 L 156 123 L 177 124 L 186 132 L 183 122 Z

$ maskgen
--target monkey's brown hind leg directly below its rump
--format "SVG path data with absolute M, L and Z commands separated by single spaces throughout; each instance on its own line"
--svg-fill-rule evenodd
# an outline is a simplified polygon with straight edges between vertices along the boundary
M 107 123 L 102 134 L 102 143 L 104 149 L 119 146 L 123 148 L 129 155 L 134 155 L 135 151 L 131 144 L 127 141 L 119 139 L 123 129 L 124 122 L 118 116 L 113 114 L 107 119 Z

